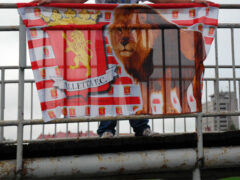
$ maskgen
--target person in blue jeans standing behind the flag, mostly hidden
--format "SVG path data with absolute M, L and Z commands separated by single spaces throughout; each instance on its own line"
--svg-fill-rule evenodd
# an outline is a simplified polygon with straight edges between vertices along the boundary
M 38 5 L 43 5 L 46 3 L 85 3 L 88 0 L 34 0 L 33 2 L 38 3 Z M 95 0 L 96 3 L 129 3 L 135 4 L 139 1 L 146 0 Z M 189 2 L 198 2 L 206 3 L 205 0 L 148 0 L 152 3 L 189 3 Z M 141 120 L 130 120 L 130 125 L 135 132 L 135 136 L 154 136 L 158 133 L 151 131 L 150 126 L 148 125 L 148 119 Z M 101 121 L 97 133 L 102 138 L 112 138 L 115 135 L 116 121 Z

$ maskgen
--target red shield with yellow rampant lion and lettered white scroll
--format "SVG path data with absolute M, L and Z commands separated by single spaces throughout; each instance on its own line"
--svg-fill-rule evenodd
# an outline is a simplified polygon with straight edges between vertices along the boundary
M 65 82 L 66 96 L 86 97 L 91 92 L 109 89 L 109 82 L 104 83 L 101 78 L 107 72 L 102 30 L 47 32 L 55 54 L 58 74 Z

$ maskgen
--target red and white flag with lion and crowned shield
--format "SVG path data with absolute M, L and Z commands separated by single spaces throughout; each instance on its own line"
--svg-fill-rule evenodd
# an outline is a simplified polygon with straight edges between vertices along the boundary
M 218 5 L 18 4 L 43 119 L 201 111 Z

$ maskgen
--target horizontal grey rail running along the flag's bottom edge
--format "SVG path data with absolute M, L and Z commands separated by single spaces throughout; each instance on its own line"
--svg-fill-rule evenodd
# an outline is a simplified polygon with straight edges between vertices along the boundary
M 117 116 L 117 117 L 88 117 L 88 118 L 70 118 L 56 119 L 50 122 L 44 122 L 42 119 L 24 120 L 23 125 L 38 125 L 38 124 L 61 124 L 61 123 L 76 123 L 76 122 L 96 122 L 108 120 L 129 120 L 129 119 L 163 119 L 163 118 L 187 118 L 197 117 L 198 113 L 192 114 L 160 114 L 160 115 L 132 115 L 132 116 Z M 240 116 L 240 112 L 219 112 L 219 113 L 204 113 L 202 117 L 218 117 L 218 116 Z M 0 121 L 0 126 L 17 126 L 19 121 L 8 120 Z

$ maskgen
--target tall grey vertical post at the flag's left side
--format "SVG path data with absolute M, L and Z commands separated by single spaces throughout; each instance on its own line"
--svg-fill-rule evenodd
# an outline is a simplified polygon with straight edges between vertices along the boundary
M 20 18 L 19 26 L 19 84 L 16 176 L 21 178 L 23 166 L 24 69 L 26 67 L 26 30 Z

